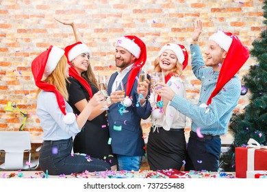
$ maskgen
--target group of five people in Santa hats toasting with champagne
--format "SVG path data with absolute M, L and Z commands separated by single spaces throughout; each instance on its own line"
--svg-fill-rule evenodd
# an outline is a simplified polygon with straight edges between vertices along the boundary
M 76 43 L 64 50 L 51 45 L 31 64 L 39 88 L 36 112 L 43 130 L 42 171 L 51 175 L 138 171 L 146 152 L 141 119 L 149 117 L 147 158 L 151 170 L 179 170 L 184 164 L 186 170 L 218 169 L 220 135 L 226 134 L 240 95 L 236 73 L 249 58 L 248 49 L 236 35 L 218 31 L 210 36 L 204 64 L 198 45 L 202 22 L 196 21 L 190 51 L 192 71 L 202 86 L 195 105 L 186 99 L 181 80 L 188 64 L 183 45 L 167 43 L 160 49 L 154 71 L 164 73 L 165 82 L 157 82 L 151 91 L 149 74 L 143 81 L 137 78 L 147 60 L 146 45 L 137 36 L 118 38 L 118 70 L 103 93 L 90 65 L 92 53 L 75 23 L 56 20 L 73 28 Z M 123 82 L 124 94 L 117 91 L 118 82 Z M 109 109 L 101 110 L 103 106 Z M 125 108 L 127 112 L 122 113 Z M 192 119 L 188 146 L 186 117 Z

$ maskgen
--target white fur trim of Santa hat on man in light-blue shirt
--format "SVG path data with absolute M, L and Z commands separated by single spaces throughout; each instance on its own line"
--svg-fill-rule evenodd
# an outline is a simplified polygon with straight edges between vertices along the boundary
M 233 38 L 231 38 L 231 36 L 227 36 L 227 34 L 222 31 L 218 31 L 215 34 L 212 34 L 212 36 L 209 37 L 209 40 L 214 40 L 215 43 L 228 52 Z

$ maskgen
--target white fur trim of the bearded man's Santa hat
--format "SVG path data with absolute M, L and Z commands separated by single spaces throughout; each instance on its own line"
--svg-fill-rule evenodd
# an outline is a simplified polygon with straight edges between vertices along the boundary
M 139 56 L 140 56 L 140 53 L 141 53 L 140 47 L 136 43 L 134 43 L 134 40 L 126 38 L 125 36 L 120 37 L 116 41 L 115 47 L 117 47 L 117 46 L 123 47 L 124 49 L 126 49 L 127 51 L 132 53 L 133 56 L 135 56 L 136 58 L 139 58 Z

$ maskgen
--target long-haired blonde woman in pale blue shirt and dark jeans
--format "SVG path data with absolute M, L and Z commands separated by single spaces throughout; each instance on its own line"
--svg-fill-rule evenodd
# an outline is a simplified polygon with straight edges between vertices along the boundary
M 93 108 L 103 102 L 101 92 L 95 93 L 79 115 L 66 102 L 66 80 L 69 65 L 64 50 L 50 46 L 31 64 L 34 81 L 38 86 L 36 113 L 43 130 L 40 149 L 40 168 L 50 175 L 105 171 L 110 165 L 90 156 L 71 154 L 73 136 L 84 127 Z

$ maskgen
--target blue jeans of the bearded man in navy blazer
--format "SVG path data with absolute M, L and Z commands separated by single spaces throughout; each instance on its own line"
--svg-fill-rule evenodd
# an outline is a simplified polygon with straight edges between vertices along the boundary
M 139 171 L 142 163 L 142 156 L 118 155 L 118 170 Z

